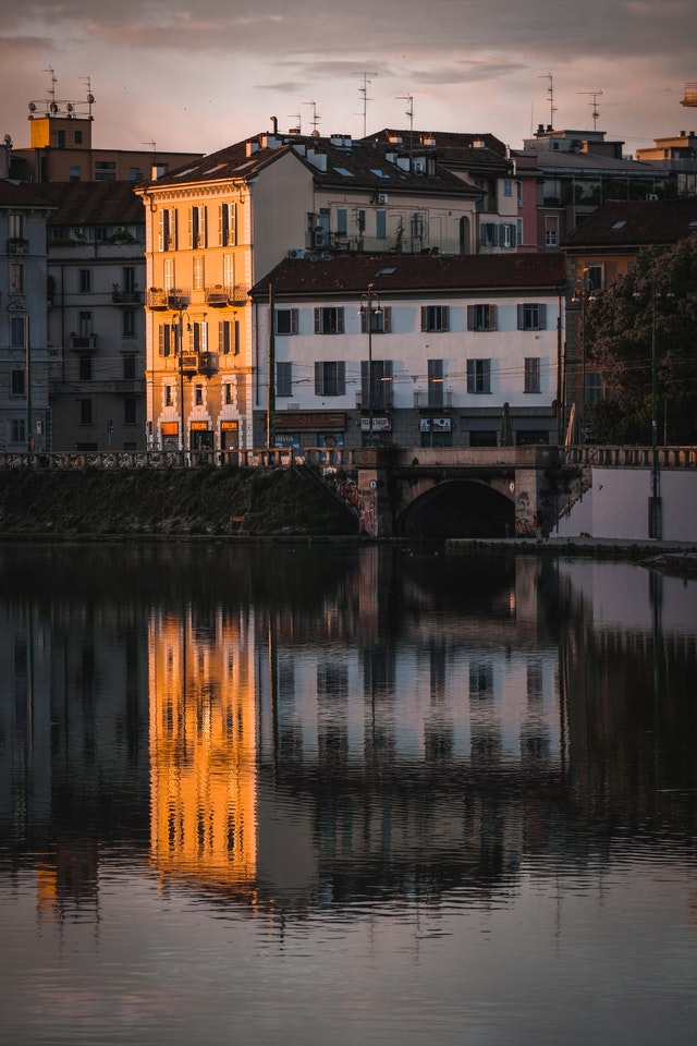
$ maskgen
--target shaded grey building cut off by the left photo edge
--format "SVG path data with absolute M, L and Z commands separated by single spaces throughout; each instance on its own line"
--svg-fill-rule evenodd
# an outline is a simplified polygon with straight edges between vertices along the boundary
M 46 202 L 0 180 L 0 450 L 51 446 Z

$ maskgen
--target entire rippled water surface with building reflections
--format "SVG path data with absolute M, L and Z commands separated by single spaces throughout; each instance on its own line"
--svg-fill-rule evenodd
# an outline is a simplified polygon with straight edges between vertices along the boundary
M 697 584 L 0 548 L 0 1043 L 697 1027 Z

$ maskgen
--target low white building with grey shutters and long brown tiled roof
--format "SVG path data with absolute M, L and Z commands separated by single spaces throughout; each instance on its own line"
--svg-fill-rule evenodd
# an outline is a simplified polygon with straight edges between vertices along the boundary
M 257 446 L 269 372 L 299 452 L 555 442 L 563 278 L 561 255 L 285 259 L 252 290 Z

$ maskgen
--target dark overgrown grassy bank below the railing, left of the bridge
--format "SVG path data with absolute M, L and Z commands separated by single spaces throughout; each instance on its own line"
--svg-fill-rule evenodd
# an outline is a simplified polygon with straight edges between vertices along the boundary
M 297 470 L 198 467 L 0 473 L 0 534 L 335 535 L 357 523 Z

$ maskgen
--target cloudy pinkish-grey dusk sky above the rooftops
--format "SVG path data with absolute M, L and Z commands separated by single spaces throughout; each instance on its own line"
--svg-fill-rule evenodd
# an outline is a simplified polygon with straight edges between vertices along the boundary
M 696 25 L 697 0 L 0 0 L 0 136 L 90 89 L 98 148 L 213 153 L 276 117 L 512 148 L 596 123 L 632 155 L 697 130 Z

